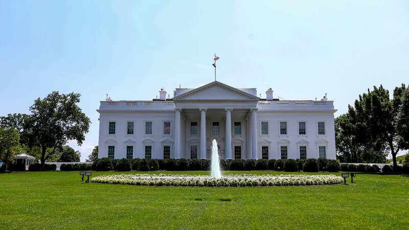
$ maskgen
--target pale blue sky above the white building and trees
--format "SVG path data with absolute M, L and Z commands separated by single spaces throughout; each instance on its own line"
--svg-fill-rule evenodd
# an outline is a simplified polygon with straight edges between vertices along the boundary
M 0 0 L 0 116 L 53 90 L 82 95 L 98 144 L 99 101 L 150 100 L 218 81 L 265 97 L 328 93 L 338 114 L 358 94 L 409 83 L 408 1 Z

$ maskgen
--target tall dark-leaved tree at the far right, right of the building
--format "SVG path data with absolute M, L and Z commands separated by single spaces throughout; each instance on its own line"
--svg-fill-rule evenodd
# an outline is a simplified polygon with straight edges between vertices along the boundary
M 374 86 L 368 93 L 359 95 L 354 107 L 349 106 L 348 116 L 354 135 L 366 140 L 366 146 L 375 151 L 388 147 L 392 154 L 393 165 L 396 167 L 396 154 L 399 150 L 409 148 L 406 136 L 409 121 L 409 93 L 402 84 L 396 87 L 392 100 L 389 91 Z M 404 129 L 404 130 L 403 130 Z

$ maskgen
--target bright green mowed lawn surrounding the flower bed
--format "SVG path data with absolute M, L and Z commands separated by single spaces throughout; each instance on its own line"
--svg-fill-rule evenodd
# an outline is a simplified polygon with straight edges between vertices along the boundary
M 93 176 L 114 173 L 121 172 Z M 0 229 L 409 229 L 408 176 L 358 174 L 355 181 L 147 187 L 83 183 L 78 172 L 7 173 L 0 174 Z

